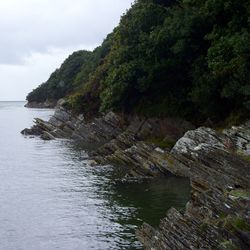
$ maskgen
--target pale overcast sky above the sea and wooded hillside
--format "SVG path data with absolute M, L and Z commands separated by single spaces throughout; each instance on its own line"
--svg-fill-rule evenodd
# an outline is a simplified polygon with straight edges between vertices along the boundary
M 100 45 L 133 0 L 0 0 L 0 101 L 26 95 L 79 49 Z

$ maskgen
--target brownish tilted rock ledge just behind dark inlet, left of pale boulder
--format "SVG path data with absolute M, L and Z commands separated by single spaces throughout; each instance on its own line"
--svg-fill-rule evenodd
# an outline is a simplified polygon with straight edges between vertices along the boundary
M 163 125 L 164 124 L 164 125 Z M 161 130 L 164 127 L 164 131 Z M 169 175 L 165 168 L 169 148 L 160 148 L 145 140 L 152 135 L 168 140 L 180 138 L 190 123 L 182 120 L 168 118 L 159 119 L 132 119 L 124 132 L 115 139 L 99 147 L 91 156 L 100 164 L 118 164 L 130 168 L 133 176 Z

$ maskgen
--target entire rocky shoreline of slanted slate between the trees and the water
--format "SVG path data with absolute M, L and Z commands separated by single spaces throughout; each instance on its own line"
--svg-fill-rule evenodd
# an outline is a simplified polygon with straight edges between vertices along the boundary
M 137 231 L 145 249 L 250 248 L 250 122 L 215 131 L 181 119 L 112 112 L 86 121 L 60 107 L 48 122 L 36 119 L 22 134 L 79 140 L 91 164 L 124 165 L 128 177 L 189 177 L 186 210 L 170 209 L 159 229 L 144 224 Z

